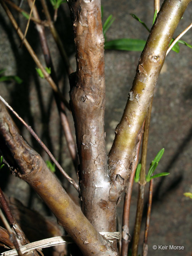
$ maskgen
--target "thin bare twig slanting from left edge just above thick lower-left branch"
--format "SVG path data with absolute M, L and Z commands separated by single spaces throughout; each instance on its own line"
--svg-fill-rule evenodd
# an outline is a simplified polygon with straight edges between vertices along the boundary
M 64 175 L 64 177 L 68 180 L 69 183 L 73 185 L 74 188 L 78 192 L 80 192 L 79 185 L 73 180 L 68 174 L 64 171 L 64 169 L 60 166 L 60 164 L 57 162 L 55 157 L 52 155 L 52 153 L 49 151 L 49 149 L 45 146 L 42 140 L 37 136 L 37 134 L 34 132 L 34 130 L 17 114 L 17 112 L 4 100 L 2 96 L 0 96 L 0 100 L 11 110 L 11 112 L 21 121 L 22 124 L 27 128 L 27 130 L 31 133 L 31 135 L 36 139 L 36 141 L 41 145 L 41 147 L 44 149 L 44 151 L 48 154 L 48 156 L 51 158 L 53 163 L 56 165 L 56 167 L 60 170 L 60 172 Z

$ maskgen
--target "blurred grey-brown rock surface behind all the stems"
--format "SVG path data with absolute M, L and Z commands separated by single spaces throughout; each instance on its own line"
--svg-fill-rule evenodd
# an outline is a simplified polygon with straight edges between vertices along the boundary
M 39 1 L 37 1 L 37 4 L 39 4 Z M 70 31 L 69 13 L 67 6 L 64 5 L 60 9 L 56 27 L 75 69 L 75 53 L 72 44 L 72 32 Z M 147 39 L 147 30 L 129 14 L 136 14 L 150 27 L 153 19 L 152 1 L 144 3 L 139 0 L 105 0 L 102 1 L 102 5 L 104 8 L 103 20 L 110 14 L 116 19 L 107 33 L 108 40 L 118 38 Z M 24 2 L 25 7 L 27 8 L 27 4 Z M 175 36 L 191 23 L 191 7 L 192 4 L 189 4 Z M 18 13 L 14 12 L 14 14 L 24 31 L 26 20 Z M 60 79 L 60 88 L 68 97 L 69 85 L 64 64 L 48 29 L 46 31 L 56 72 Z M 0 83 L 0 94 L 35 129 L 64 169 L 68 173 L 72 173 L 73 178 L 76 178 L 60 128 L 60 120 L 51 89 L 44 80 L 41 80 L 36 75 L 36 66 L 25 48 L 18 48 L 20 40 L 4 15 L 2 7 L 0 7 L 0 38 L 0 69 L 6 68 L 6 75 L 18 75 L 24 81 L 22 84 L 13 82 Z M 38 44 L 38 35 L 33 23 L 30 25 L 27 39 L 44 63 Z M 192 32 L 188 31 L 182 39 L 192 44 Z M 139 57 L 140 52 L 105 52 L 105 130 L 108 151 L 114 139 L 114 129 L 120 121 L 128 98 L 128 92 L 132 86 Z M 70 114 L 69 118 L 74 130 Z M 48 156 L 32 139 L 26 129 L 17 120 L 16 123 L 29 144 L 36 148 L 44 160 L 48 160 Z M 191 256 L 192 200 L 186 198 L 183 193 L 192 192 L 192 49 L 184 45 L 180 45 L 179 54 L 172 51 L 168 54 L 156 85 L 148 145 L 148 166 L 161 148 L 165 148 L 165 153 L 157 172 L 170 172 L 170 175 L 166 178 L 156 179 L 154 183 L 148 255 Z M 25 205 L 30 205 L 36 210 L 44 210 L 41 206 L 41 200 L 37 196 L 30 196 L 31 191 L 27 184 L 12 175 L 5 175 L 4 172 L 0 173 L 0 185 L 8 195 L 15 196 Z M 4 176 L 6 176 L 6 180 Z M 64 181 L 63 183 L 66 189 L 76 196 L 76 193 L 70 189 L 69 185 Z M 131 234 L 135 221 L 137 189 L 137 184 L 134 184 L 131 207 Z M 147 190 L 148 185 L 146 186 Z M 123 202 L 118 205 L 119 223 L 122 218 L 122 206 Z M 141 242 L 143 234 L 144 222 Z M 180 245 L 184 246 L 184 250 L 153 250 L 153 245 Z

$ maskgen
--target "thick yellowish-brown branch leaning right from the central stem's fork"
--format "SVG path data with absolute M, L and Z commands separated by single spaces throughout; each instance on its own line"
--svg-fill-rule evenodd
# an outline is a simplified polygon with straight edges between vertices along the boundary
M 136 77 L 108 156 L 108 169 L 113 182 L 112 200 L 118 199 L 132 172 L 138 134 L 147 115 L 170 40 L 189 2 L 164 1 L 140 56 Z

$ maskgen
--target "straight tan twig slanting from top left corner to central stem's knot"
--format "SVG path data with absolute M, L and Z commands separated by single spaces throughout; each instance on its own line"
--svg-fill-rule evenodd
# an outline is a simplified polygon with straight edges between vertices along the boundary
M 14 17 L 12 16 L 12 13 L 9 11 L 7 5 L 4 3 L 3 0 L 0 0 L 1 5 L 3 6 L 5 12 L 7 13 L 13 27 L 15 28 L 18 36 L 20 37 L 20 39 L 22 40 L 24 38 L 24 34 L 21 32 L 18 24 L 16 23 L 16 20 L 14 19 Z M 29 54 L 32 56 L 33 60 L 35 61 L 36 65 L 38 66 L 38 68 L 40 68 L 40 70 L 42 71 L 45 79 L 48 81 L 48 83 L 50 84 L 50 86 L 52 87 L 52 89 L 60 96 L 60 99 L 64 102 L 65 106 L 70 109 L 69 104 L 67 102 L 67 100 L 64 98 L 64 96 L 62 95 L 62 93 L 60 92 L 59 88 L 57 88 L 56 84 L 54 83 L 54 81 L 52 80 L 51 76 L 48 74 L 48 72 L 45 70 L 45 68 L 43 67 L 43 65 L 41 64 L 40 60 L 38 59 L 38 57 L 36 56 L 35 52 L 33 51 L 32 47 L 30 46 L 30 44 L 28 43 L 28 41 L 26 39 L 24 39 L 24 45 L 27 48 Z

